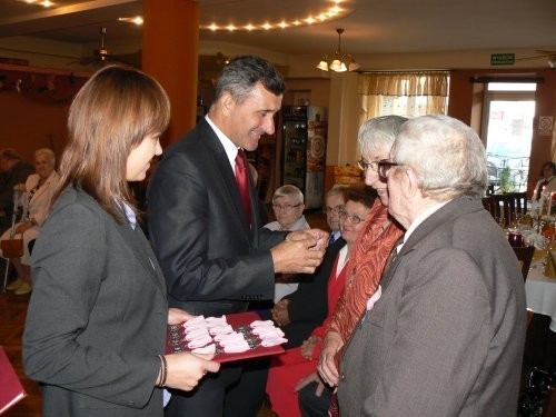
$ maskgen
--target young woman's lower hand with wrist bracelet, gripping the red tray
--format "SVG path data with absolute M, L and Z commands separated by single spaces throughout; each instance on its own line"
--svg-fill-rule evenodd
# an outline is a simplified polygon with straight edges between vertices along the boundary
M 207 373 L 217 373 L 220 364 L 214 360 L 214 355 L 193 355 L 188 351 L 166 355 L 165 387 L 190 391 Z

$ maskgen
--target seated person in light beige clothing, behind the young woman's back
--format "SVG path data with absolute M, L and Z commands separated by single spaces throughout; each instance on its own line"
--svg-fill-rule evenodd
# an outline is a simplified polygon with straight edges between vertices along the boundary
M 51 149 L 41 148 L 34 151 L 34 169 L 37 173 L 27 177 L 24 185 L 16 186 L 21 192 L 23 218 L 14 225 L 16 235 L 23 239 L 23 256 L 12 258 L 18 278 L 6 288 L 16 295 L 26 295 L 31 291 L 31 267 L 29 242 L 39 236 L 40 228 L 48 216 L 52 195 L 58 187 L 60 176 L 54 170 L 56 155 Z M 11 228 L 6 230 L 0 240 L 10 239 Z M 0 256 L 3 256 L 0 249 Z

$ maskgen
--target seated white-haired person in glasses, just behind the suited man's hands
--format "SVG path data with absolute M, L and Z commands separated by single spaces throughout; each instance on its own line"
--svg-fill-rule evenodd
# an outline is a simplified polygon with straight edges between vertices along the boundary
M 299 188 L 291 185 L 281 186 L 272 195 L 272 210 L 276 221 L 265 227 L 269 230 L 308 230 L 310 229 L 304 216 L 304 193 Z M 295 292 L 298 282 L 288 282 L 288 279 L 277 276 L 274 301 L 278 302 L 288 294 Z

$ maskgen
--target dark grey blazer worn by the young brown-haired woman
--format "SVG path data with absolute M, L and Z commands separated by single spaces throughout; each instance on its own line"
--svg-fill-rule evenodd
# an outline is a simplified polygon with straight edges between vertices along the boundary
M 162 416 L 166 287 L 145 235 L 68 189 L 32 254 L 26 374 L 44 416 Z

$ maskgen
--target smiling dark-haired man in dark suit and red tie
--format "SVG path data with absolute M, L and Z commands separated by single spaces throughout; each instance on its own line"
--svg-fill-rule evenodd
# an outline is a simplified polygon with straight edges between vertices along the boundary
M 170 306 L 205 316 L 245 311 L 250 300 L 272 299 L 275 274 L 311 274 L 321 262 L 328 234 L 262 229 L 252 179 L 248 195 L 237 183 L 236 159 L 274 133 L 285 88 L 268 61 L 236 58 L 207 117 L 158 163 L 147 192 L 149 230 Z M 238 365 L 222 366 L 195 393 L 175 393 L 167 415 L 249 417 L 254 391 L 239 401 L 246 409 L 224 411 L 225 390 L 239 375 Z

